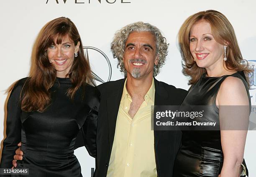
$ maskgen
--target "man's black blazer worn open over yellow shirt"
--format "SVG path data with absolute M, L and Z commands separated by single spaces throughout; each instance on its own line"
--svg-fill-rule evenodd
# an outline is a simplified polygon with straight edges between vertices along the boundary
M 97 124 L 97 159 L 94 177 L 106 177 L 115 136 L 115 125 L 125 79 L 106 82 L 98 86 L 101 93 Z M 155 82 L 155 105 L 180 105 L 187 91 L 172 85 Z M 155 131 L 154 149 L 158 177 L 172 177 L 181 132 Z

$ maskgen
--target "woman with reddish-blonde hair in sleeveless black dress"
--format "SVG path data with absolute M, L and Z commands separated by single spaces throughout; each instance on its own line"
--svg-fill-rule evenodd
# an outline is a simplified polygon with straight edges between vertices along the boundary
M 182 105 L 207 106 L 203 120 L 217 122 L 220 129 L 195 131 L 191 126 L 182 131 L 174 177 L 238 177 L 251 99 L 246 78 L 249 70 L 242 64 L 233 27 L 218 11 L 198 12 L 183 23 L 179 44 L 183 72 L 192 85 Z M 236 114 L 228 114 L 233 113 L 229 109 Z M 244 126 L 233 126 L 236 120 Z

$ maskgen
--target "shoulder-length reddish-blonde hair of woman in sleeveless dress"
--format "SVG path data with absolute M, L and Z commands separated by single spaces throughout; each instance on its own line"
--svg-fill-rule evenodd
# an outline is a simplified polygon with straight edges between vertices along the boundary
M 248 63 L 241 63 L 243 61 L 243 57 L 238 47 L 235 31 L 230 22 L 228 21 L 227 17 L 225 17 L 225 15 L 216 10 L 206 10 L 198 12 L 188 17 L 179 30 L 178 39 L 181 50 L 180 52 L 182 55 L 182 59 L 184 61 L 182 72 L 184 75 L 190 76 L 189 84 L 195 84 L 200 79 L 200 77 L 206 72 L 205 68 L 197 66 L 189 50 L 190 30 L 193 25 L 202 20 L 205 20 L 206 22 L 210 23 L 212 35 L 218 43 L 222 45 L 225 45 L 224 41 L 228 43 L 228 60 L 225 61 L 227 69 L 250 72 L 250 70 L 248 70 Z

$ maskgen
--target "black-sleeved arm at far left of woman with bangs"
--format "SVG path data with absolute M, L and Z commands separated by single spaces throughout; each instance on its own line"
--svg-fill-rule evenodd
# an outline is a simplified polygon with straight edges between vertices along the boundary
M 13 87 L 7 103 L 6 138 L 3 141 L 0 168 L 11 168 L 13 155 L 21 140 L 20 92 L 23 85 L 20 81 Z

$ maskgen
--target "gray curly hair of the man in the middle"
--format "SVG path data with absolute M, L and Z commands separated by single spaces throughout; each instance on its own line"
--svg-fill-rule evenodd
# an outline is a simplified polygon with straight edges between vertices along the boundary
M 165 64 L 169 44 L 166 43 L 166 38 L 162 36 L 161 31 L 157 27 L 144 22 L 132 23 L 115 33 L 114 39 L 111 42 L 111 51 L 113 53 L 113 57 L 118 59 L 118 67 L 120 67 L 120 71 L 124 72 L 125 75 L 127 73 L 124 67 L 123 55 L 125 42 L 128 39 L 129 34 L 132 32 L 151 32 L 152 35 L 155 36 L 158 65 L 154 65 L 154 76 L 158 75 L 160 68 Z

